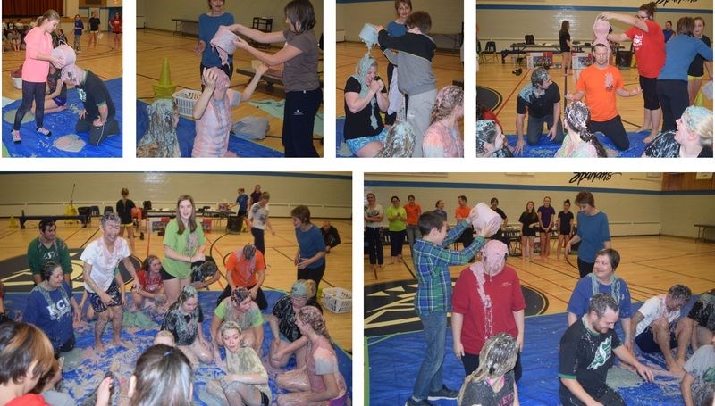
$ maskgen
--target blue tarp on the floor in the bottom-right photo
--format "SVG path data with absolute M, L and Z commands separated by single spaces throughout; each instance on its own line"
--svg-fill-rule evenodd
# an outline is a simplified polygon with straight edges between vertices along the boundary
M 692 307 L 695 298 L 684 309 Z M 634 304 L 636 311 L 642 303 Z M 686 310 L 683 314 L 687 314 Z M 522 405 L 559 405 L 559 340 L 566 331 L 566 313 L 526 318 L 526 338 L 521 353 L 523 375 L 518 383 L 519 402 Z M 623 337 L 620 323 L 618 336 Z M 392 336 L 370 337 L 367 339 L 369 352 L 370 405 L 405 404 L 412 394 L 420 364 L 424 358 L 425 339 L 422 331 L 396 334 Z M 452 348 L 451 329 L 447 331 L 447 349 L 444 358 L 444 383 L 458 389 L 464 380 L 465 371 L 460 360 L 450 351 Z M 399 351 L 396 351 L 399 349 Z M 662 355 L 641 353 L 636 356 L 644 365 L 656 371 L 654 383 L 643 383 L 639 387 L 618 389 L 629 405 L 670 405 L 683 404 L 680 395 L 680 380 L 676 377 L 660 375 L 664 372 Z M 433 402 L 433 401 L 431 401 Z M 454 401 L 433 402 L 439 405 L 453 405 Z

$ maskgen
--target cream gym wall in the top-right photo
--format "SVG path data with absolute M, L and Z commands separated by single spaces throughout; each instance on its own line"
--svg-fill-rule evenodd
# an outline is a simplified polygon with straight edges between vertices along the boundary
M 518 2 L 479 0 L 476 5 L 476 22 L 479 25 L 478 40 L 482 49 L 487 41 L 497 43 L 497 51 L 511 49 L 511 44 L 524 42 L 524 36 L 534 36 L 536 44 L 559 42 L 561 21 L 570 21 L 571 40 L 581 43 L 593 41 L 593 22 L 601 12 L 619 12 L 635 15 L 641 4 L 649 0 L 554 0 L 551 2 Z M 662 4 L 665 3 L 665 4 Z M 712 32 L 712 3 L 710 0 L 676 2 L 663 0 L 658 5 L 655 21 L 665 28 L 665 21 L 673 21 L 676 29 L 681 17 L 700 16 L 705 21 L 705 32 Z M 630 27 L 620 21 L 610 21 L 613 31 L 624 32 Z M 706 34 L 708 35 L 708 34 Z M 710 36 L 710 35 L 708 35 Z M 630 43 L 624 43 L 630 47 Z

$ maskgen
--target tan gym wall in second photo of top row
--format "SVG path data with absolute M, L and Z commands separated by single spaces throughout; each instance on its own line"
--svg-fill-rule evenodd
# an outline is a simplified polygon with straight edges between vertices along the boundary
M 315 38 L 323 33 L 323 1 L 311 0 L 315 11 Z M 251 26 L 254 17 L 273 19 L 273 31 L 286 29 L 285 12 L 283 8 L 288 0 L 252 1 L 226 0 L 224 10 L 231 12 L 237 23 Z M 208 11 L 206 0 L 138 0 L 137 16 L 144 16 L 147 29 L 164 29 L 173 31 L 176 24 L 172 19 L 198 21 L 198 16 Z M 332 16 L 331 16 L 332 18 Z M 138 27 L 139 28 L 139 27 Z

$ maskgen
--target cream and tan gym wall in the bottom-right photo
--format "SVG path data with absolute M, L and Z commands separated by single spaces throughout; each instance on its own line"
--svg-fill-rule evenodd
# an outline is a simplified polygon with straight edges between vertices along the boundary
M 606 212 L 613 236 L 669 235 L 696 237 L 694 223 L 715 222 L 713 191 L 661 192 L 661 176 L 646 173 L 613 173 L 596 179 L 583 178 L 578 183 L 575 173 L 442 173 L 442 174 L 368 174 L 365 191 L 373 192 L 377 202 L 387 208 L 391 196 L 407 203 L 408 195 L 415 195 L 423 211 L 433 210 L 437 200 L 445 202 L 450 224 L 454 224 L 454 210 L 458 195 L 467 196 L 467 204 L 489 204 L 492 197 L 499 199 L 499 207 L 507 213 L 509 225 L 521 227 L 518 218 L 526 209 L 526 202 L 535 207 L 543 204 L 543 197 L 551 197 L 551 205 L 558 213 L 563 201 L 571 200 L 571 211 L 578 211 L 574 199 L 581 190 L 593 193 L 596 208 Z M 572 182 L 573 180 L 573 182 Z

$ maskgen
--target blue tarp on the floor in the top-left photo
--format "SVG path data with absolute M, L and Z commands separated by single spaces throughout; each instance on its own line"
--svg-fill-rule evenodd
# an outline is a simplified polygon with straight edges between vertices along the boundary
M 105 81 L 105 85 L 112 95 L 112 101 L 116 109 L 115 119 L 119 121 L 119 128 L 122 129 L 122 78 Z M 16 100 L 3 107 L 3 115 L 6 112 L 17 110 L 21 100 Z M 31 120 L 21 126 L 22 142 L 13 143 L 13 123 L 3 120 L 3 145 L 7 148 L 7 153 L 13 157 L 122 157 L 122 131 L 116 136 L 107 137 L 100 145 L 89 144 L 89 133 L 76 133 L 74 126 L 77 124 L 79 112 L 83 109 L 82 102 L 77 89 L 70 87 L 67 90 L 67 110 L 45 114 L 44 125 L 52 131 L 52 137 L 40 136 L 35 132 L 35 120 Z M 30 113 L 28 112 L 28 116 Z M 26 116 L 26 118 L 28 117 Z M 14 116 L 13 116 L 14 117 Z M 71 153 L 55 148 L 53 142 L 58 138 L 68 134 L 77 134 L 87 145 L 79 152 Z

